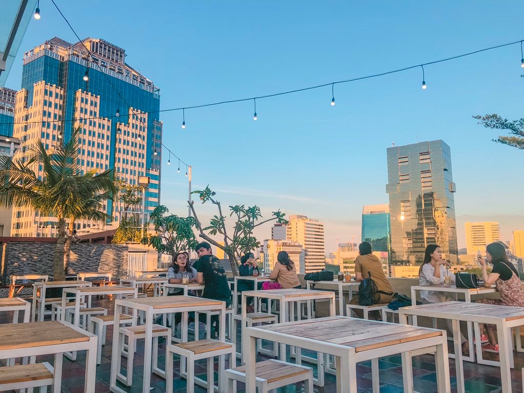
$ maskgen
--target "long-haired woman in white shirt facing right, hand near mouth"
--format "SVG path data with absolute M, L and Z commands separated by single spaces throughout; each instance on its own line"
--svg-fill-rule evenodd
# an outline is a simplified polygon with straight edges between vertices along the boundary
M 419 269 L 419 285 L 440 285 L 444 283 L 444 276 L 450 276 L 455 283 L 455 275 L 445 268 L 446 261 L 442 259 L 442 249 L 436 244 L 428 244 L 425 249 L 424 261 Z M 420 291 L 420 301 L 423 304 L 449 302 L 451 299 L 446 292 Z M 446 319 L 447 335 L 453 337 L 453 325 Z M 461 332 L 462 352 L 469 353 L 467 340 Z

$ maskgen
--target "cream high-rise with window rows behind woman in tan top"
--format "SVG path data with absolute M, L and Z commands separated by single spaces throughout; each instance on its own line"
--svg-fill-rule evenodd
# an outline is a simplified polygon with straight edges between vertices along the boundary
M 308 219 L 305 215 L 289 216 L 286 225 L 288 240 L 304 247 L 305 260 L 303 273 L 325 268 L 324 224 Z

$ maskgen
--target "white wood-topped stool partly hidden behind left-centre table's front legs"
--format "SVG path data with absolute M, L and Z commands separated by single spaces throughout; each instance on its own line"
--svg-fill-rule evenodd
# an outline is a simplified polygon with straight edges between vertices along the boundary
M 125 337 L 127 336 L 127 351 L 125 350 Z M 166 378 L 166 372 L 158 368 L 158 337 L 166 337 L 166 343 L 171 342 L 171 329 L 162 325 L 153 325 L 153 353 L 152 353 L 152 371 Z M 126 326 L 119 329 L 118 334 L 118 353 L 127 357 L 127 373 L 126 376 L 121 374 L 122 356 L 118 356 L 116 360 L 116 379 L 121 381 L 126 386 L 133 385 L 133 361 L 135 358 L 136 341 L 146 338 L 146 326 Z

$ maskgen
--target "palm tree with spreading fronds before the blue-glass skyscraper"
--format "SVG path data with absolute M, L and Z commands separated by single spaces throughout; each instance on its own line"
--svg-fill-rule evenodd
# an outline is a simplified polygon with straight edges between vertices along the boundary
M 66 246 L 69 249 L 74 222 L 79 219 L 105 220 L 103 202 L 116 194 L 113 169 L 82 173 L 79 165 L 80 127 L 69 141 L 60 141 L 47 152 L 41 141 L 27 157 L 0 157 L 0 205 L 29 205 L 41 216 L 58 220 L 58 241 L 54 249 L 54 279 L 65 279 Z M 42 166 L 38 176 L 35 168 Z M 66 231 L 68 225 L 69 232 Z

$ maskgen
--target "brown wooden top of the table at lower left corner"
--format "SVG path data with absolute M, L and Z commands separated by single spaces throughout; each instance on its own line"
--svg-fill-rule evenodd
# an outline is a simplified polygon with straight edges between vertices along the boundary
M 0 337 L 0 351 L 89 340 L 58 321 L 0 324 Z

